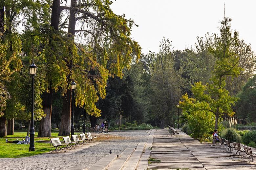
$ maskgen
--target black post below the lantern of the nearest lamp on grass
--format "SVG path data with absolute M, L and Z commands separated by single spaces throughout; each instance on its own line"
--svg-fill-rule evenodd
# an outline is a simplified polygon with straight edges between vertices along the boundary
M 31 128 L 30 128 L 29 151 L 35 151 L 35 145 L 34 145 L 34 137 L 35 137 L 35 129 L 34 129 L 34 84 L 35 84 L 35 77 L 32 76 L 32 105 L 31 105 Z

